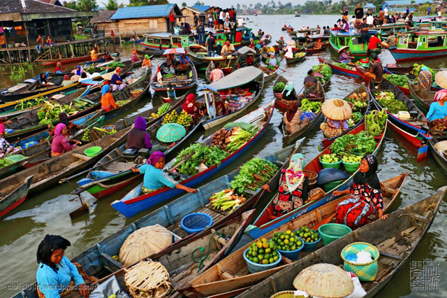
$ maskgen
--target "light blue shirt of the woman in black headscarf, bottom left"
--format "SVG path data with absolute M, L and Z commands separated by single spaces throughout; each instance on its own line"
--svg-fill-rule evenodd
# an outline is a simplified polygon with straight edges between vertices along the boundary
M 45 264 L 39 264 L 37 269 L 37 284 L 45 298 L 59 298 L 59 293 L 66 289 L 68 284 L 70 284 L 71 278 L 73 278 L 76 285 L 85 284 L 84 279 L 78 272 L 78 268 L 66 257 L 62 257 L 61 264 L 56 266 L 59 268 L 57 272 L 54 272 L 53 269 Z

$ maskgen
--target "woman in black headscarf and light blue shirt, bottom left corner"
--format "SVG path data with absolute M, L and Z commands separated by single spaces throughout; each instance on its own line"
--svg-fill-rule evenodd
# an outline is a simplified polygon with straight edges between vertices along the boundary
M 87 276 L 78 263 L 72 263 L 64 256 L 71 246 L 70 241 L 58 235 L 46 235 L 37 249 L 36 272 L 39 298 L 64 297 L 79 289 L 82 297 L 89 297 L 89 287 L 98 278 Z

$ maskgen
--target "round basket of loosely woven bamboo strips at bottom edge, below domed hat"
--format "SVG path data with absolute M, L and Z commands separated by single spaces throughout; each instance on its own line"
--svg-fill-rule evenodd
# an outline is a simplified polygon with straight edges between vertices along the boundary
M 132 297 L 168 297 L 170 294 L 169 273 L 160 262 L 147 260 L 124 271 L 124 281 Z

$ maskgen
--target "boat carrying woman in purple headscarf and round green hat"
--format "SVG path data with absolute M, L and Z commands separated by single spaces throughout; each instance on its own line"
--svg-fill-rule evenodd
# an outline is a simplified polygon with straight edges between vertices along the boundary
M 203 100 L 198 99 L 198 101 Z M 184 97 L 182 99 L 178 99 L 173 103 L 173 108 L 170 108 L 170 112 L 177 111 L 177 115 L 180 115 L 182 112 L 182 104 L 184 103 Z M 153 110 L 153 109 L 152 109 Z M 148 113 L 145 113 L 146 115 Z M 131 120 L 135 120 L 137 116 L 129 118 L 127 122 Z M 147 126 L 147 132 L 151 136 L 152 145 L 153 146 L 162 146 L 166 149 L 164 154 L 166 157 L 171 157 L 171 154 L 177 150 L 186 139 L 188 139 L 193 132 L 196 132 L 198 127 L 201 125 L 201 121 L 203 118 L 198 118 L 196 122 L 194 122 L 190 127 L 186 127 L 186 135 L 175 142 L 175 146 L 169 148 L 170 143 L 163 143 L 156 139 L 156 132 L 162 126 L 163 118 L 159 118 L 155 122 L 151 122 L 149 126 Z M 123 152 L 127 149 L 127 144 L 123 144 L 119 146 L 117 150 L 113 150 L 108 155 L 105 155 L 94 167 L 95 170 L 89 171 L 87 174 L 87 178 L 83 178 L 78 181 L 78 185 L 80 186 L 80 190 L 78 192 L 82 192 L 87 190 L 94 197 L 105 197 L 108 194 L 112 194 L 117 190 L 120 190 L 122 187 L 133 183 L 135 180 L 142 180 L 142 175 L 134 174 L 131 171 L 131 167 L 139 168 L 142 164 L 135 164 L 134 158 L 130 158 L 129 160 L 126 157 L 123 157 Z M 114 162 L 110 163 L 108 161 L 113 160 Z M 101 164 L 104 164 L 101 166 Z

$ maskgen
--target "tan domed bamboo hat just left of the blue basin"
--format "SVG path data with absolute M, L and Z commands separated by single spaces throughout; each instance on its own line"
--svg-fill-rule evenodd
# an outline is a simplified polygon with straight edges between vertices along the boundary
M 161 225 L 142 227 L 130 234 L 119 249 L 119 260 L 129 266 L 158 253 L 173 243 L 173 236 Z

